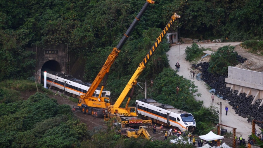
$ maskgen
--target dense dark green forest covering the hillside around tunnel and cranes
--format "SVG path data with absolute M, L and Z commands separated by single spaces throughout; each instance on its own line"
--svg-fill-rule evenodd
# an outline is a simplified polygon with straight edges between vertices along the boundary
M 36 93 L 26 101 L 19 98 L 19 91 L 36 91 L 34 82 L 26 80 L 32 78 L 36 65 L 32 59 L 35 53 L 27 48 L 67 45 L 70 54 L 82 59 L 85 65 L 83 79 L 92 82 L 145 2 L 0 0 L 0 133 L 3 135 L 0 146 L 182 147 L 162 141 L 128 141 L 111 130 L 87 131 L 72 116 L 70 107 L 58 105 L 45 94 Z M 106 88 L 113 100 L 174 12 L 181 18 L 170 30 L 178 31 L 179 38 L 259 40 L 263 36 L 262 3 L 260 0 L 160 0 L 150 4 L 111 67 Z M 168 50 L 169 44 L 164 40 L 138 82 L 154 80 L 148 87 L 148 97 L 191 112 L 194 117 L 203 117 L 196 119 L 195 134 L 207 133 L 218 122 L 216 109 L 205 108 L 202 101 L 195 101 L 197 87 L 169 68 Z M 175 86 L 183 93 L 175 95 Z M 143 90 L 136 88 L 130 105 L 143 96 Z

